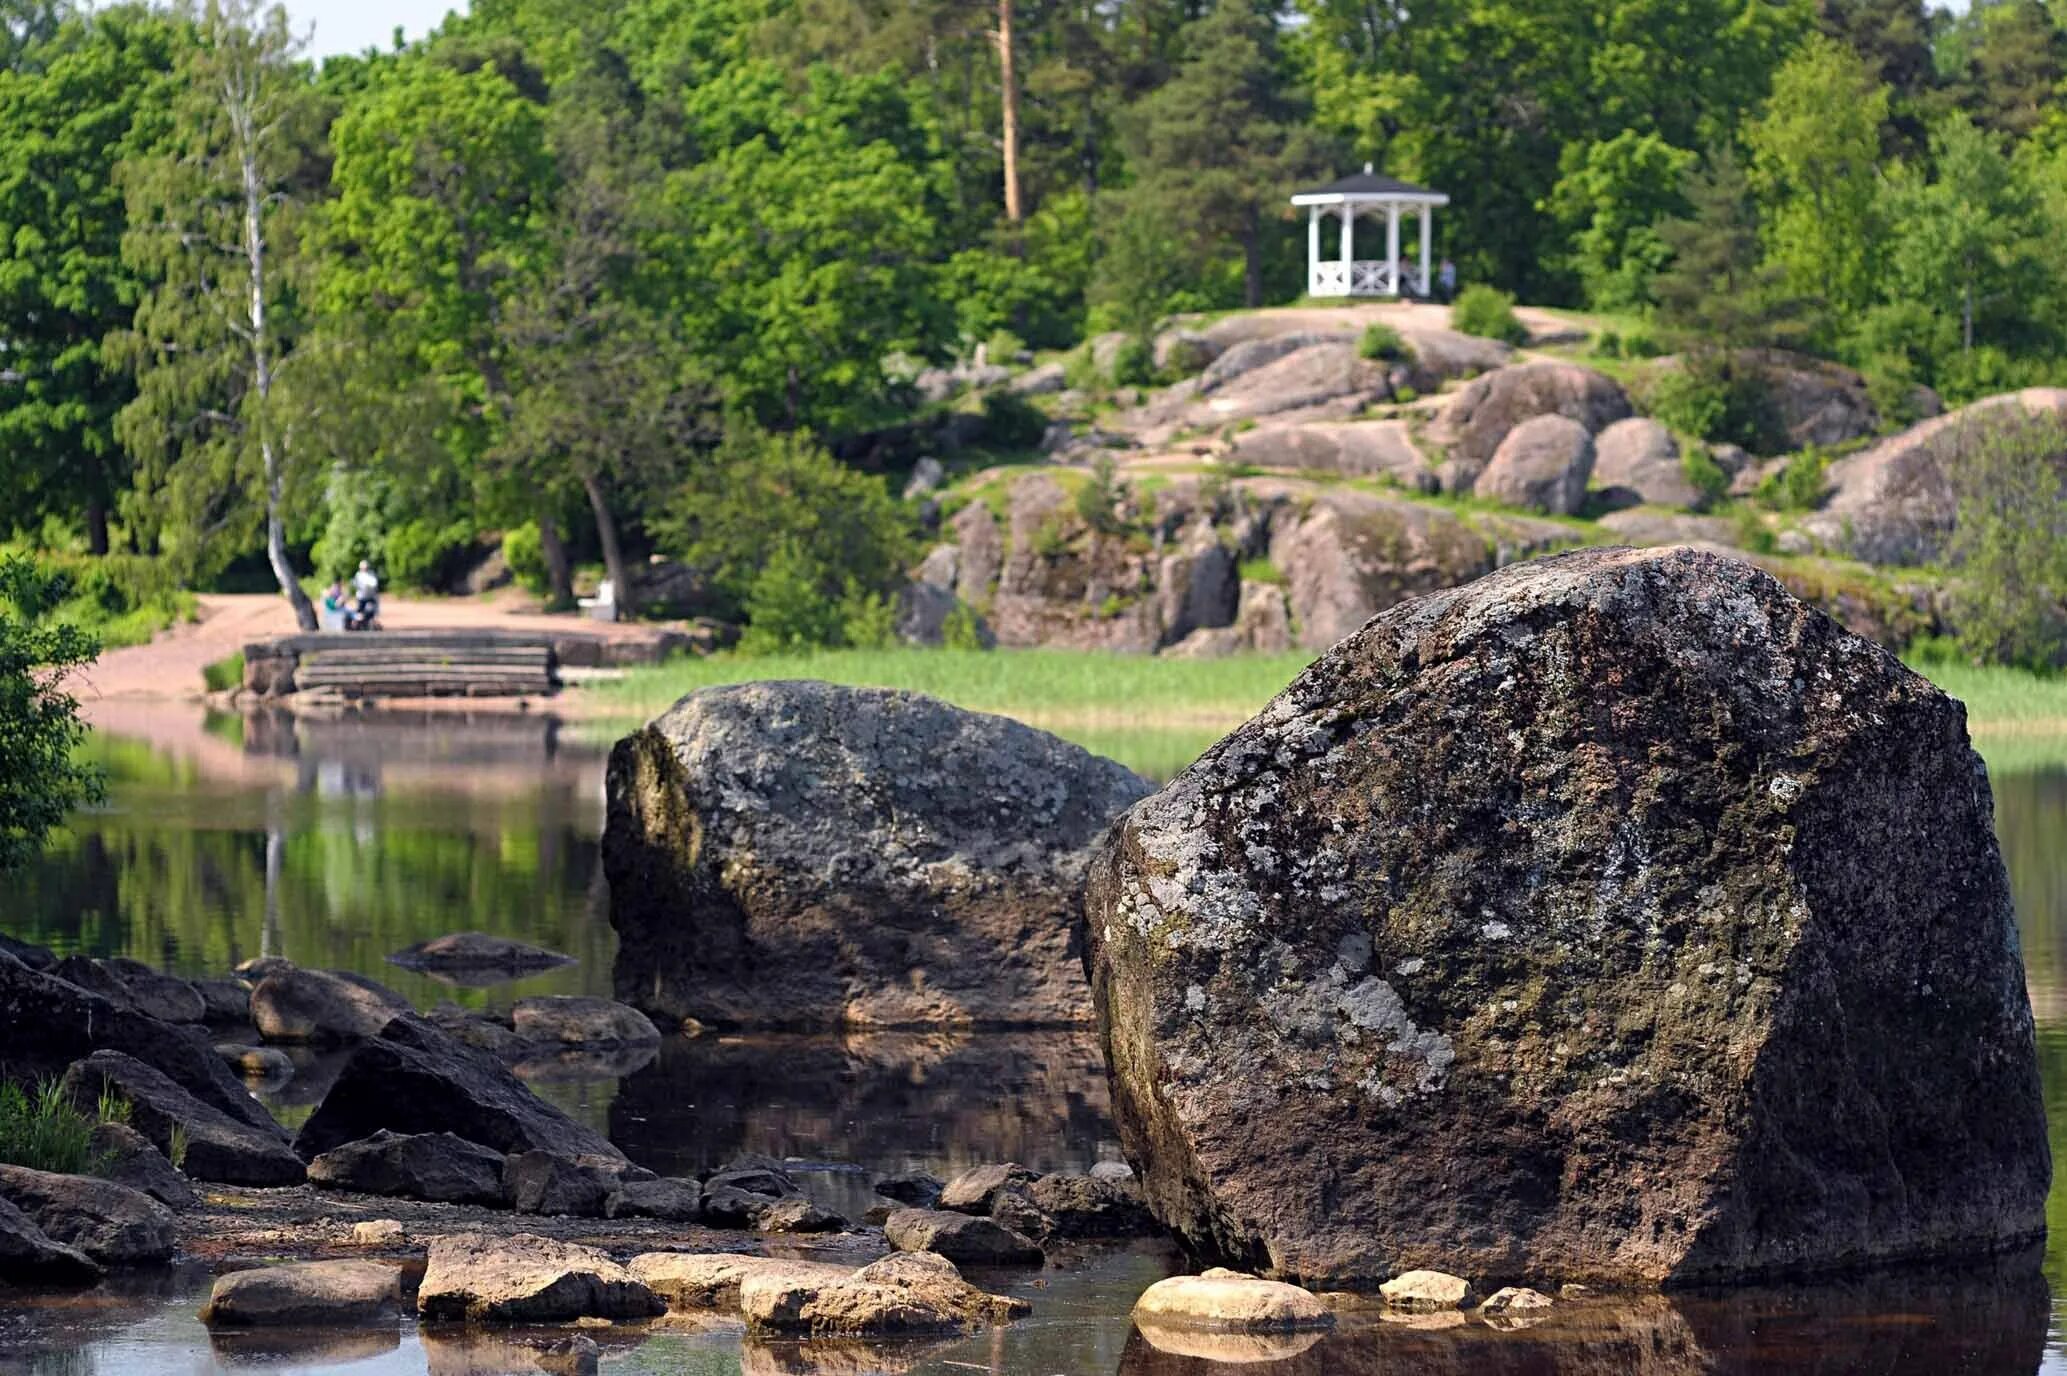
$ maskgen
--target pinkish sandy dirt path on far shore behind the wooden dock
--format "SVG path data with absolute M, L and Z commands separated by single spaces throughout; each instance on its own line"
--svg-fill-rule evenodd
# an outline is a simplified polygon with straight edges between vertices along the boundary
M 159 634 L 149 645 L 112 649 L 74 680 L 72 692 L 95 715 L 95 702 L 198 698 L 200 669 L 236 655 L 248 640 L 296 632 L 294 609 L 273 593 L 203 593 L 200 618 Z M 568 630 L 639 640 L 651 626 L 589 622 L 544 614 L 521 593 L 494 597 L 382 597 L 389 630 Z M 376 632 L 378 634 L 378 632 Z

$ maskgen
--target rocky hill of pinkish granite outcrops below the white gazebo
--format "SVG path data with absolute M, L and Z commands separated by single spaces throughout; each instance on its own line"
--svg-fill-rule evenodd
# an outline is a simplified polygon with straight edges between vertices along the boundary
M 1763 353 L 1780 452 L 1751 455 L 1643 413 L 1672 359 L 1612 376 L 1579 362 L 1585 331 L 1523 320 L 1515 349 L 1451 331 L 1439 306 L 1263 310 L 1166 331 L 1162 376 L 1184 376 L 1164 386 L 1102 382 L 1116 337 L 1069 364 L 928 378 L 940 397 L 1017 395 L 1048 428 L 1042 461 L 924 496 L 938 543 L 914 570 L 905 634 L 1321 649 L 1401 597 L 1548 550 L 1699 543 L 1902 647 L 1945 630 L 1929 564 L 1951 533 L 1947 469 L 2001 415 L 2067 417 L 2067 390 L 1951 413 L 1922 395 L 1933 415 L 1893 430 L 1858 374 Z M 1391 339 L 1366 343 L 1370 324 Z M 1769 500 L 1782 481 L 1794 510 Z

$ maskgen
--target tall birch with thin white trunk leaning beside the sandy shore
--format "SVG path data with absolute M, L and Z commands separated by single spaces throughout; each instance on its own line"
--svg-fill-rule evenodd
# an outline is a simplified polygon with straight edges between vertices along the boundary
M 281 401 L 300 339 L 296 221 L 320 186 L 316 99 L 277 4 L 178 14 L 198 41 L 180 58 L 172 136 L 122 169 L 122 252 L 155 283 L 114 341 L 136 370 L 116 421 L 136 457 L 132 519 L 190 570 L 263 533 L 281 595 L 314 630 L 287 552 L 298 415 Z

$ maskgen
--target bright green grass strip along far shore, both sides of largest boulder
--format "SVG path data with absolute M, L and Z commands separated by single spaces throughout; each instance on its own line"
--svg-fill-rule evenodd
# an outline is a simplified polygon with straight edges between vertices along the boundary
M 909 688 L 1017 717 L 1151 779 L 1168 779 L 1255 715 L 1308 661 L 1302 651 L 1232 659 L 924 649 L 713 655 L 633 669 L 620 682 L 583 692 L 616 729 L 713 684 L 821 678 Z M 1937 663 L 1922 674 L 1966 702 L 1974 744 L 1997 773 L 2067 764 L 2067 678 Z

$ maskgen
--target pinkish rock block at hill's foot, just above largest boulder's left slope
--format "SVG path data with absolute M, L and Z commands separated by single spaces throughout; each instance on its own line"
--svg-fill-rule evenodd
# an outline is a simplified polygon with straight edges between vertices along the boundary
M 1306 649 L 1333 645 L 1401 597 L 1488 572 L 1492 554 L 1455 512 L 1356 488 L 1323 490 L 1271 535 Z

